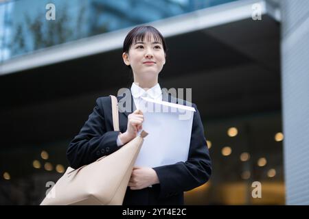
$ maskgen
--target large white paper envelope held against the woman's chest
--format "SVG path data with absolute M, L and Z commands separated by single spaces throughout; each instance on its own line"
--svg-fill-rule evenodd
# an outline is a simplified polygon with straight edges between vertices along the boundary
M 135 166 L 153 168 L 187 161 L 194 107 L 143 99 L 145 102 L 137 107 L 144 113 L 143 129 L 148 136 Z

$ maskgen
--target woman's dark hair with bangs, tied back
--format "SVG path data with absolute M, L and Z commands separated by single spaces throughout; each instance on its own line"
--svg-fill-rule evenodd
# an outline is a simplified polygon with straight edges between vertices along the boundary
M 163 50 L 166 55 L 167 47 L 165 43 L 165 39 L 163 38 L 162 34 L 159 32 L 159 30 L 155 29 L 155 27 L 152 26 L 138 26 L 130 30 L 128 32 L 128 35 L 126 35 L 126 38 L 124 39 L 124 46 L 122 47 L 122 53 L 128 53 L 130 46 L 138 41 L 144 40 L 144 37 L 148 34 L 148 38 L 153 36 L 155 38 L 155 41 L 161 42 L 163 45 Z M 128 66 L 131 68 L 131 66 Z

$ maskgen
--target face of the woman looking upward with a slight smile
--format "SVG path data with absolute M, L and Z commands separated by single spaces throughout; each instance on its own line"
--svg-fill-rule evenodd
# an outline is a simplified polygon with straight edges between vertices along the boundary
M 145 35 L 143 41 L 131 44 L 127 53 L 122 55 L 124 63 L 130 65 L 135 77 L 141 80 L 157 78 L 165 64 L 165 52 L 161 42 L 153 36 Z

